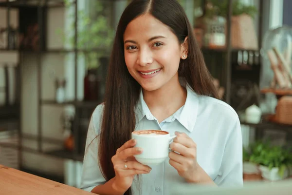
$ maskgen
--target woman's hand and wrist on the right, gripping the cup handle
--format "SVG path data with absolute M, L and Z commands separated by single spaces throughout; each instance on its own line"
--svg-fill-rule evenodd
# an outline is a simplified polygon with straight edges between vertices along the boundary
M 197 162 L 197 144 L 185 133 L 176 132 L 170 144 L 169 164 L 191 183 L 214 183 Z M 177 154 L 179 153 L 179 154 Z

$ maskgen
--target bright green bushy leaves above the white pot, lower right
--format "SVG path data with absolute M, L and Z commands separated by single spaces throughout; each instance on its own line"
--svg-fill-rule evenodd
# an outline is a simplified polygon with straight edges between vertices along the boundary
M 288 149 L 280 146 L 271 146 L 269 142 L 258 141 L 250 146 L 249 161 L 267 166 L 270 170 L 279 168 L 279 175 L 283 176 L 288 166 L 292 165 L 292 155 Z

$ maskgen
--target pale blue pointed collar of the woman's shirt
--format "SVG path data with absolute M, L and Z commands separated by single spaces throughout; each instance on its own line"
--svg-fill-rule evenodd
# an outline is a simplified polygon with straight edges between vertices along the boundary
M 198 108 L 199 108 L 199 99 L 198 95 L 186 85 L 186 100 L 183 106 L 183 110 L 180 115 L 174 114 L 173 116 L 189 131 L 192 132 L 196 123 Z M 153 115 L 151 114 L 146 102 L 143 98 L 143 92 L 141 90 L 140 97 L 136 105 L 136 118 L 137 122 L 141 121 L 144 117 L 148 120 L 154 120 Z

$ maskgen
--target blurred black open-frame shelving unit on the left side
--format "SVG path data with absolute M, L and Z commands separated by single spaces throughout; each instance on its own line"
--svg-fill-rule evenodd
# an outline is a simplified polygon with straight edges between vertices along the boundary
M 74 160 L 79 160 L 82 161 L 83 155 L 79 153 L 76 147 L 74 147 L 74 150 L 71 152 L 64 150 L 57 150 L 57 151 L 44 151 L 42 146 L 43 143 L 50 143 L 50 144 L 56 144 L 56 145 L 63 145 L 64 141 L 57 139 L 57 138 L 49 138 L 49 137 L 44 137 L 43 136 L 43 131 L 42 131 L 42 107 L 44 105 L 46 106 L 58 106 L 58 107 L 64 107 L 64 106 L 73 106 L 75 108 L 75 120 L 73 122 L 73 136 L 74 136 L 74 142 L 75 146 L 78 146 L 78 137 L 79 137 L 79 115 L 81 115 L 81 112 L 84 110 L 89 110 L 92 111 L 98 104 L 101 103 L 101 99 L 98 101 L 90 101 L 90 102 L 84 102 L 84 101 L 78 101 L 77 100 L 77 66 L 78 66 L 78 53 L 90 53 L 90 52 L 99 52 L 101 51 L 101 48 L 93 48 L 91 50 L 86 50 L 86 49 L 78 49 L 77 48 L 77 19 L 78 19 L 78 8 L 77 8 L 77 0 L 71 1 L 72 4 L 71 6 L 74 6 L 74 46 L 72 49 L 47 49 L 45 45 L 43 45 L 42 41 L 39 41 L 38 47 L 40 48 L 39 50 L 27 50 L 27 49 L 0 49 L 0 53 L 16 53 L 20 56 L 19 59 L 22 59 L 25 55 L 34 55 L 37 57 L 37 135 L 27 135 L 23 134 L 22 129 L 21 129 L 21 118 L 20 118 L 20 113 L 21 113 L 21 105 L 20 101 L 16 105 L 11 105 L 11 106 L 2 106 L 0 107 L 0 127 L 5 128 L 5 130 L 8 129 L 8 127 L 12 127 L 11 123 L 14 124 L 13 129 L 15 128 L 15 124 L 17 124 L 17 132 L 14 132 L 13 138 L 12 139 L 5 139 L 5 140 L 0 140 L 0 146 L 1 147 L 9 147 L 9 148 L 14 148 L 18 150 L 18 162 L 19 165 L 18 167 L 22 169 L 22 164 L 21 160 L 22 159 L 22 152 L 29 152 L 29 153 L 34 153 L 34 154 L 45 154 L 48 156 L 55 156 L 55 157 L 60 157 L 60 158 L 68 158 L 68 159 L 74 159 Z M 64 0 L 15 0 L 15 1 L 4 1 L 0 2 L 0 7 L 5 8 L 7 10 L 7 24 L 10 24 L 10 11 L 12 8 L 17 8 L 19 10 L 21 9 L 26 9 L 26 8 L 33 8 L 37 10 L 37 24 L 39 26 L 39 39 L 45 39 L 45 33 L 44 32 L 44 16 L 46 13 L 46 9 L 48 8 L 59 8 L 59 7 L 64 7 L 66 6 Z M 21 20 L 20 20 L 21 22 Z M 10 29 L 9 29 L 10 30 Z M 8 31 L 9 34 L 9 31 Z M 9 41 L 9 40 L 8 40 Z M 8 44 L 9 45 L 9 44 Z M 64 103 L 57 103 L 55 100 L 52 99 L 41 99 L 42 96 L 42 87 L 41 87 L 41 81 L 42 81 L 42 61 L 41 58 L 45 54 L 74 54 L 74 100 L 70 102 L 64 102 Z M 19 70 L 21 70 L 21 64 L 22 62 L 19 62 Z M 20 81 L 21 79 L 19 79 Z M 20 83 L 18 83 L 18 86 L 20 86 Z M 0 90 L 6 90 L 0 89 Z M 19 93 L 21 95 L 21 92 Z M 18 97 L 18 100 L 21 99 L 21 97 Z M 7 118 L 9 121 L 7 121 Z M 12 119 L 11 119 L 12 118 Z M 1 130 L 1 129 L 0 129 Z M 30 147 L 24 147 L 22 146 L 22 142 L 24 140 L 32 140 L 32 141 L 37 141 L 37 149 L 35 148 L 30 148 Z M 25 169 L 25 168 L 23 168 Z

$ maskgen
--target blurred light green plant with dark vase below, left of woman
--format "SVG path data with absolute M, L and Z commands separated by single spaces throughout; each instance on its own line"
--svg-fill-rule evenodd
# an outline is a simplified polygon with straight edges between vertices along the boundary
M 65 0 L 67 8 L 71 0 Z M 77 50 L 78 56 L 85 60 L 84 100 L 102 98 L 105 76 L 110 61 L 110 49 L 114 39 L 114 29 L 110 27 L 110 9 L 106 1 L 91 1 L 89 13 L 78 12 Z M 73 18 L 73 16 L 72 16 Z M 66 43 L 74 45 L 74 21 L 68 32 L 59 30 Z

